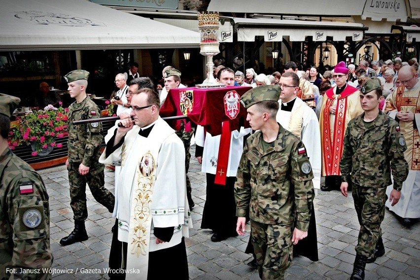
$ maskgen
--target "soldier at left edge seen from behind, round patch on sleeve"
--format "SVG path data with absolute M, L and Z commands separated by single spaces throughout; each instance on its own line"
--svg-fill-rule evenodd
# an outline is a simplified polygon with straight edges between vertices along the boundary
M 0 94 L 0 279 L 51 279 L 48 194 L 41 176 L 7 144 L 19 102 Z

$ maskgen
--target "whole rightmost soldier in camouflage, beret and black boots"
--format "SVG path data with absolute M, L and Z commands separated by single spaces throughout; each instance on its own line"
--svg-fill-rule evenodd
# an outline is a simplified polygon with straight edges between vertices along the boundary
M 385 254 L 381 223 L 385 216 L 385 191 L 393 186 L 389 201 L 395 205 L 401 196 L 408 164 L 404 159 L 407 149 L 398 123 L 379 110 L 382 89 L 377 78 L 368 78 L 360 90 L 360 104 L 364 113 L 352 119 L 344 138 L 340 161 L 341 192 L 347 197 L 348 182 L 352 182 L 354 208 L 360 224 L 355 247 L 352 280 L 364 279 L 366 263 Z

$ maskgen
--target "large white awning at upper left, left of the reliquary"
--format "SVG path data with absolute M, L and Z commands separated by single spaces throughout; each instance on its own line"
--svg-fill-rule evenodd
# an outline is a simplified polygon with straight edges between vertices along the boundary
M 86 0 L 2 1 L 0 51 L 199 47 L 200 34 Z

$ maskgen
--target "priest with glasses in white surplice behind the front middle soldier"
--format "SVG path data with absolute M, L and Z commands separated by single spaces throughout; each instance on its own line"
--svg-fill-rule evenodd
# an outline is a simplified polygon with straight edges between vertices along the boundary
M 296 86 L 294 86 L 296 84 Z M 298 98 L 299 77 L 294 72 L 285 72 L 279 82 L 280 108 L 277 121 L 282 127 L 300 139 L 306 147 L 306 152 L 314 172 L 312 182 L 319 189 L 321 180 L 321 135 L 315 111 Z

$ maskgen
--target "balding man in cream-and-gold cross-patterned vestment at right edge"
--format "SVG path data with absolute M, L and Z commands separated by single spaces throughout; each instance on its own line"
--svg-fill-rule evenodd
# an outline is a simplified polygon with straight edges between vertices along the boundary
M 404 226 L 411 226 L 420 217 L 420 83 L 417 71 L 411 66 L 403 66 L 398 71 L 400 86 L 387 99 L 385 113 L 399 123 L 401 134 L 407 141 L 404 158 L 409 172 L 403 183 L 400 202 L 394 206 L 389 201 L 385 206 L 401 217 Z M 392 185 L 386 194 L 390 195 Z

